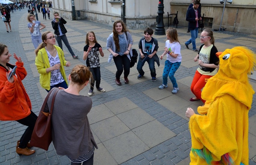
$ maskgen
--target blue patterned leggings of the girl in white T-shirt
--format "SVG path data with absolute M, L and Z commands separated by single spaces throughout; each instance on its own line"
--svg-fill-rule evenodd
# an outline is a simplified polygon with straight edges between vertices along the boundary
M 181 62 L 172 63 L 169 60 L 165 61 L 165 65 L 163 69 L 163 85 L 167 85 L 167 77 L 169 76 L 170 80 L 172 81 L 173 88 L 178 87 L 174 74 L 180 65 L 181 65 Z

